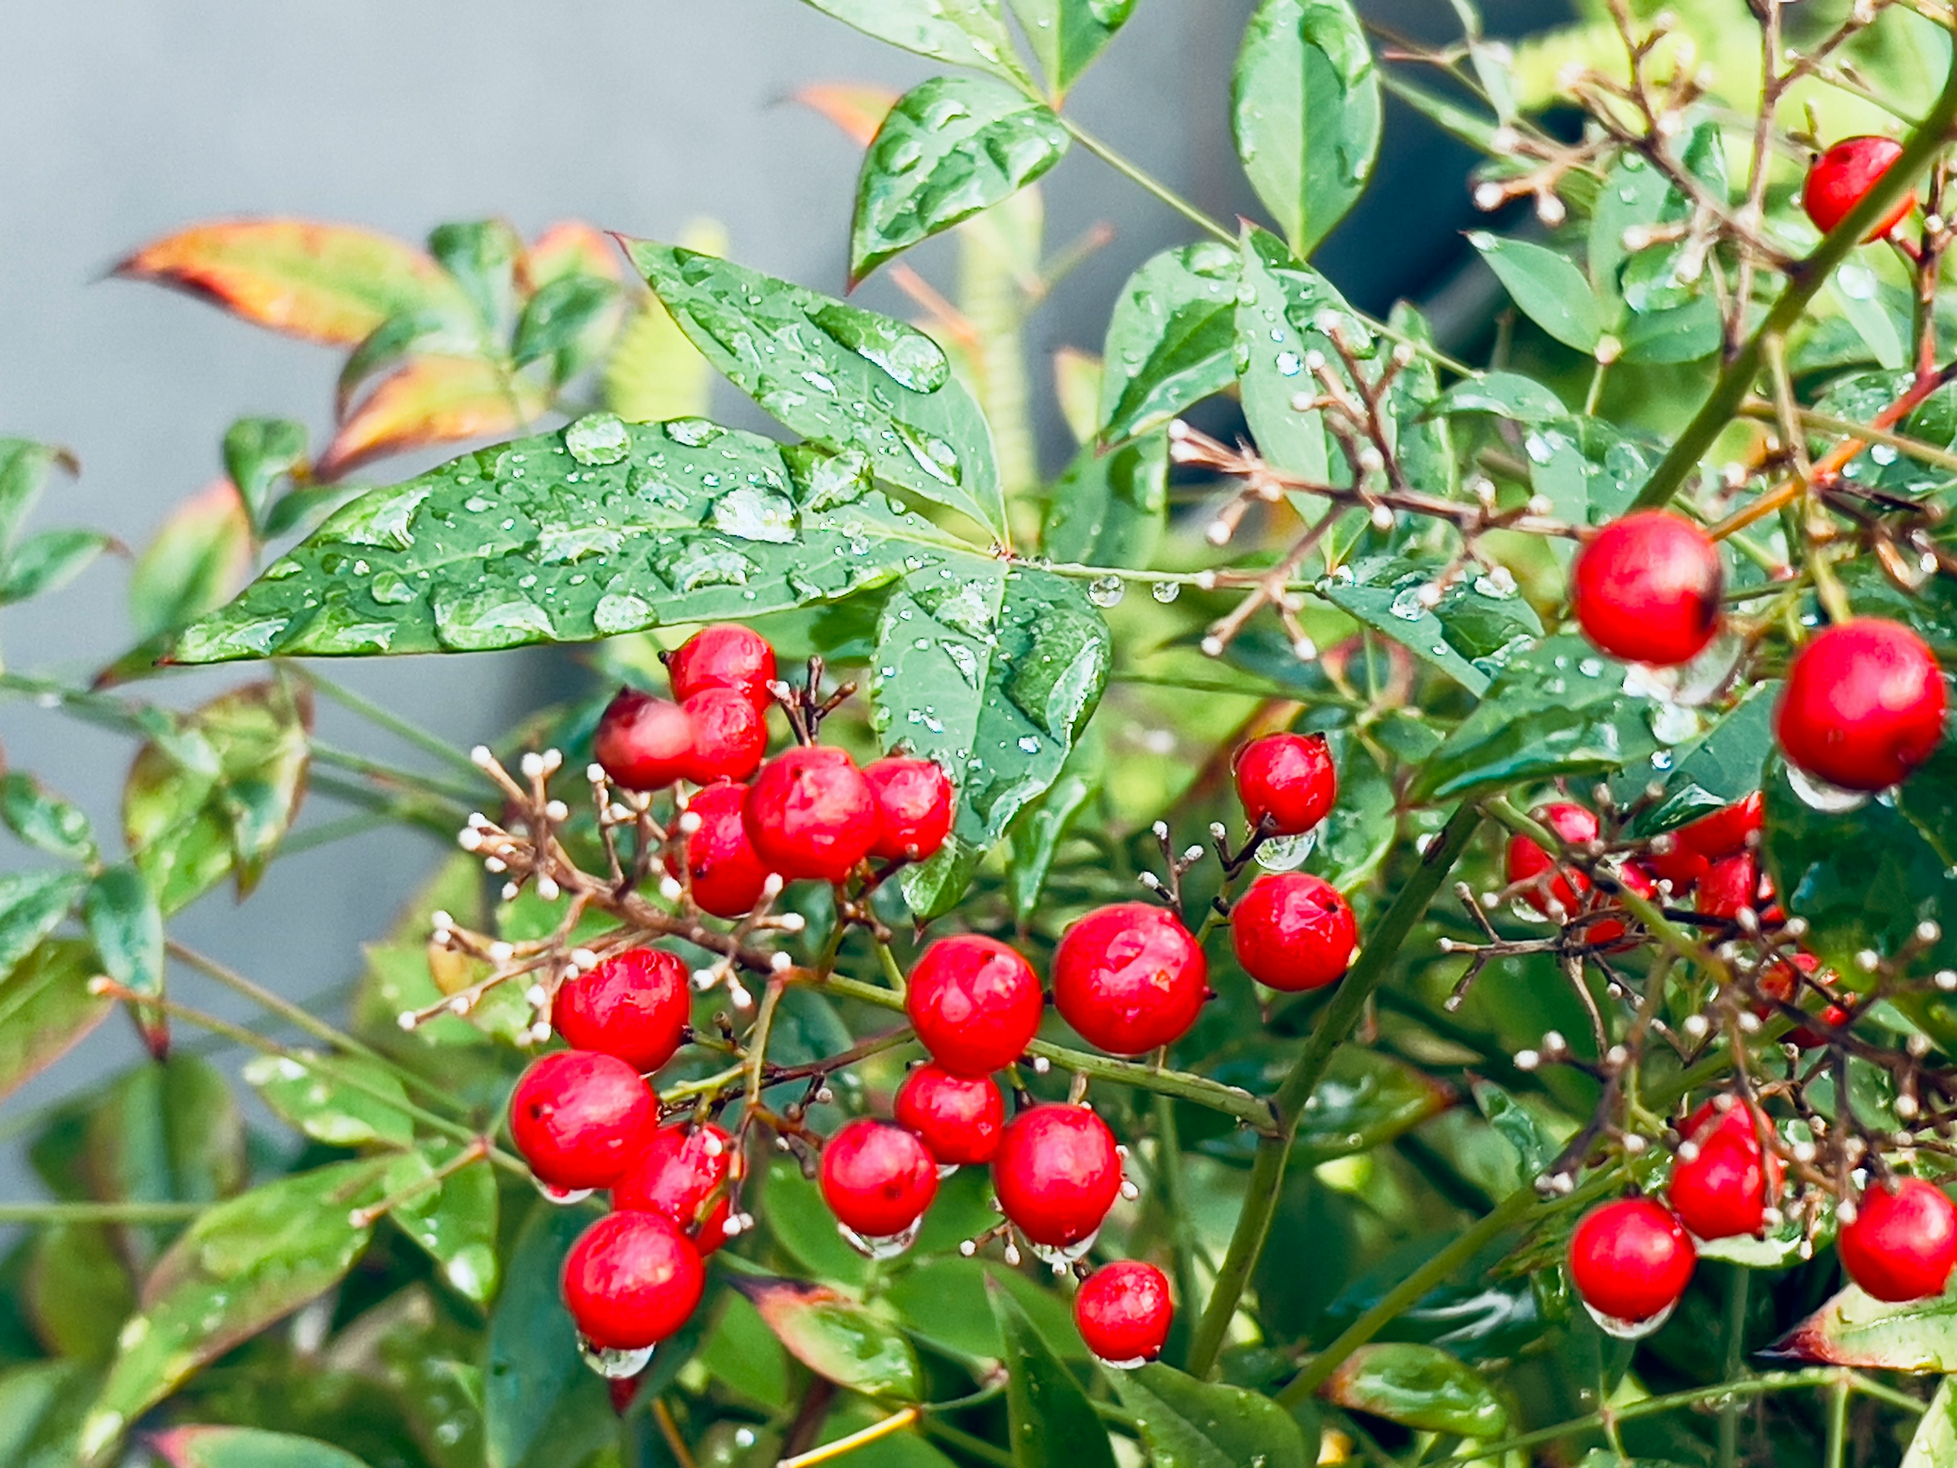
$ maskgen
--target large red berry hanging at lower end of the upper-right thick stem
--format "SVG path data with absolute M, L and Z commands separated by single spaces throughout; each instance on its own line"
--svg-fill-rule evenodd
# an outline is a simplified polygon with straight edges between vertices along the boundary
M 1720 622 L 1718 546 L 1683 515 L 1644 509 L 1603 527 L 1570 570 L 1583 636 L 1630 664 L 1691 662 Z

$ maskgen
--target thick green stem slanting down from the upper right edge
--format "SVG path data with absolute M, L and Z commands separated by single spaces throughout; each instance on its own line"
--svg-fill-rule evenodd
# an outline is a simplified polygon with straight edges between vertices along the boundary
M 1808 309 L 1808 301 L 1834 274 L 1834 268 L 1847 258 L 1861 237 L 1881 219 L 1889 207 L 1908 192 L 1916 178 L 1930 166 L 1930 161 L 1949 141 L 1951 125 L 1957 123 L 1957 65 L 1943 78 L 1943 90 L 1924 117 L 1924 125 L 1910 135 L 1902 155 L 1877 176 L 1861 202 L 1847 211 L 1814 252 L 1802 258 L 1787 280 L 1787 290 L 1767 309 L 1759 329 L 1746 339 L 1746 344 L 1718 374 L 1707 401 L 1685 425 L 1671 444 L 1671 452 L 1652 470 L 1644 482 L 1632 509 L 1658 509 L 1679 491 L 1699 468 L 1701 456 L 1712 446 L 1718 435 L 1740 411 L 1746 395 L 1759 376 L 1761 354 L 1769 339 L 1787 337 Z

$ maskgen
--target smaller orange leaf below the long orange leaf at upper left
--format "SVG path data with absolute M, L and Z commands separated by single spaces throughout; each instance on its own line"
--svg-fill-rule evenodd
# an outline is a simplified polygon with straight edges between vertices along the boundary
M 546 407 L 542 390 L 513 384 L 479 356 L 417 356 L 341 423 L 317 474 L 335 480 L 382 454 L 517 433 Z

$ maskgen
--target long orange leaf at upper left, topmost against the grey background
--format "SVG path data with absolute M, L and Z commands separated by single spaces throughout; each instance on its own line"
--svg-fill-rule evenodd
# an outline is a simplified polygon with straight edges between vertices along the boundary
M 153 241 L 115 266 L 292 337 L 352 346 L 397 311 L 468 313 L 434 260 L 401 241 L 311 219 L 229 219 Z

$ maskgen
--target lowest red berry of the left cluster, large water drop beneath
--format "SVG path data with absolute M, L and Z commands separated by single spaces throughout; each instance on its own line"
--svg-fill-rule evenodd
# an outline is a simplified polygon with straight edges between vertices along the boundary
M 660 1214 L 607 1214 L 564 1257 L 564 1304 L 603 1351 L 642 1351 L 693 1313 L 706 1288 L 699 1251 Z

